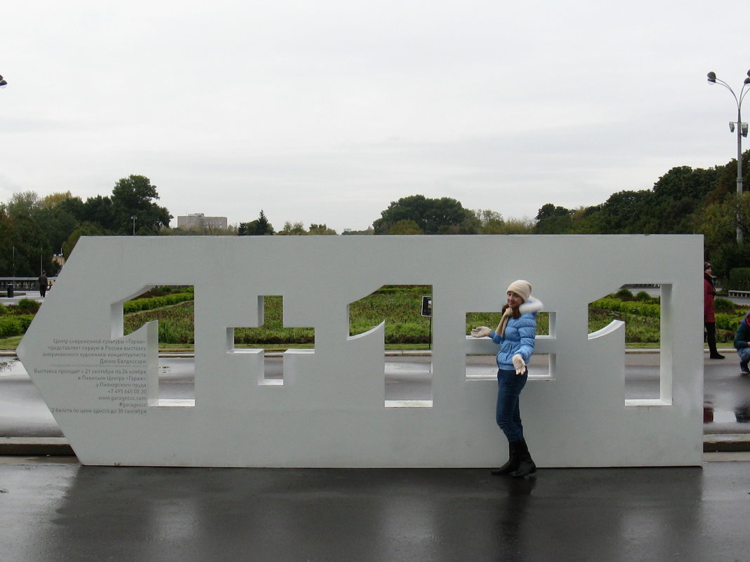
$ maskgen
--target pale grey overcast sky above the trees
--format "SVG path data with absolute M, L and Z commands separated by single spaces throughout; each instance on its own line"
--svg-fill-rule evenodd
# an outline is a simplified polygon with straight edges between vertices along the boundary
M 505 218 L 736 157 L 750 2 L 6 2 L 0 201 L 145 175 L 175 216 Z M 750 118 L 750 101 L 745 110 Z M 750 144 L 748 147 L 750 148 Z

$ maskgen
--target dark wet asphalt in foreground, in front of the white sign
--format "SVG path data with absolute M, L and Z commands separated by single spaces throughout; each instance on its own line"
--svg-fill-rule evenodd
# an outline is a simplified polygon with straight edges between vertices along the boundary
M 0 457 L 3 562 L 739 562 L 750 462 L 113 468 Z

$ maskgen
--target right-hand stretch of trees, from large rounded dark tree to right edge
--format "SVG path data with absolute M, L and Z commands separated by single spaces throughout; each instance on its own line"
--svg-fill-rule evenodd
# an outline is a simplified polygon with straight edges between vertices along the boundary
M 742 154 L 743 184 L 750 185 L 750 151 Z M 677 166 L 648 190 L 613 193 L 601 205 L 542 205 L 533 220 L 471 211 L 455 199 L 410 196 L 392 202 L 373 223 L 374 234 L 699 234 L 703 259 L 726 279 L 750 266 L 750 193 L 736 195 L 736 160 L 709 169 Z M 736 231 L 743 233 L 737 243 Z

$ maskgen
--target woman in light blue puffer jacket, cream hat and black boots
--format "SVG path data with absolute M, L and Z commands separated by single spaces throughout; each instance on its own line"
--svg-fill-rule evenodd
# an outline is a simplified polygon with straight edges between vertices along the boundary
M 487 326 L 471 330 L 474 337 L 489 336 L 499 343 L 497 353 L 497 406 L 495 419 L 508 439 L 508 462 L 495 468 L 492 474 L 510 474 L 523 478 L 536 472 L 536 465 L 523 438 L 519 396 L 526 385 L 529 370 L 526 363 L 534 352 L 536 313 L 543 306 L 531 296 L 528 281 L 517 280 L 508 286 L 507 302 L 502 307 L 502 318 L 496 330 Z

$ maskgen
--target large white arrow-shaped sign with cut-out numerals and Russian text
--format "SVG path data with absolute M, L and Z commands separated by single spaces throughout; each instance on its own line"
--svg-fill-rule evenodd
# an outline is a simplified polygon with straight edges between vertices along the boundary
M 19 347 L 87 465 L 488 467 L 504 460 L 496 381 L 466 377 L 466 312 L 496 312 L 529 280 L 550 313 L 521 403 L 542 467 L 700 465 L 699 236 L 81 238 Z M 625 400 L 621 323 L 587 333 L 587 304 L 625 283 L 661 285 L 658 399 Z M 350 336 L 348 305 L 382 285 L 432 285 L 432 402 L 387 407 L 383 325 Z M 195 289 L 195 399 L 158 398 L 157 327 L 123 337 L 122 303 L 153 285 Z M 259 297 L 314 351 L 264 384 L 263 354 L 234 349 Z M 492 372 L 490 372 L 490 375 Z M 425 404 L 422 404 L 425 406 Z

